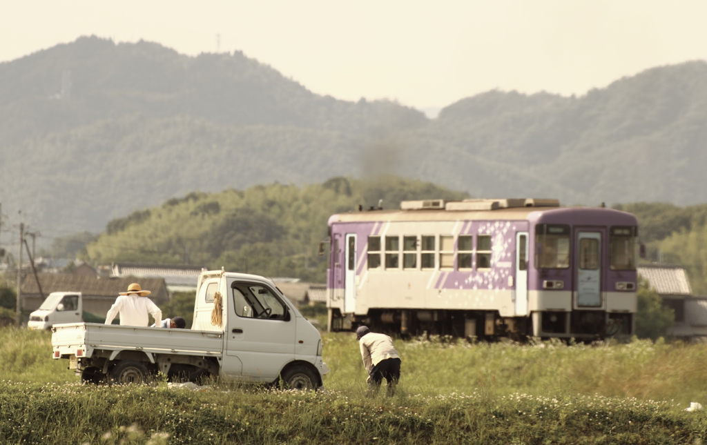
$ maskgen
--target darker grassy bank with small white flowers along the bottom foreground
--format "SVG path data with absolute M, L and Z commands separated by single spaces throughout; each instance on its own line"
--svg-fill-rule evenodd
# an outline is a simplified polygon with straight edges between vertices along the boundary
M 132 436 L 131 434 L 132 430 Z M 484 393 L 209 391 L 0 381 L 4 444 L 694 444 L 707 416 L 670 403 Z M 123 442 L 124 443 L 124 442 Z

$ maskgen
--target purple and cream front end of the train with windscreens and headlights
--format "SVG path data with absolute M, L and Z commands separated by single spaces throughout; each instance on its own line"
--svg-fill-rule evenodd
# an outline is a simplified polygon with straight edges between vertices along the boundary
M 637 235 L 635 223 L 534 225 L 532 336 L 591 340 L 633 334 Z

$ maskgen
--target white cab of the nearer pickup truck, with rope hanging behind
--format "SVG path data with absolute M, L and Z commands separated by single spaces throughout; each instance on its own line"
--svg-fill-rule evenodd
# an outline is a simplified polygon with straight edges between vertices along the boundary
M 321 382 L 319 331 L 274 283 L 258 275 L 221 271 L 204 272 L 199 278 L 192 329 L 223 332 L 222 376 L 271 382 L 282 375 L 289 381 L 298 370 Z M 216 292 L 221 295 L 221 325 L 212 317 Z

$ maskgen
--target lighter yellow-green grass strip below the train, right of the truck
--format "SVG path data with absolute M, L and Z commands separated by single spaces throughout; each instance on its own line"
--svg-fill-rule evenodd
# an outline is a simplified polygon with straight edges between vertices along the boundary
M 324 359 L 332 369 L 327 387 L 344 390 L 363 381 L 358 345 L 349 334 L 325 334 Z M 402 357 L 402 382 L 412 393 L 538 396 L 595 395 L 674 401 L 707 406 L 707 345 L 652 343 L 530 345 L 445 341 L 395 341 Z

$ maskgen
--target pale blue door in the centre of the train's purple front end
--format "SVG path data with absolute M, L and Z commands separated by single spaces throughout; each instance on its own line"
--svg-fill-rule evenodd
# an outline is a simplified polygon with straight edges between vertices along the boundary
M 602 234 L 577 232 L 577 306 L 602 306 Z

